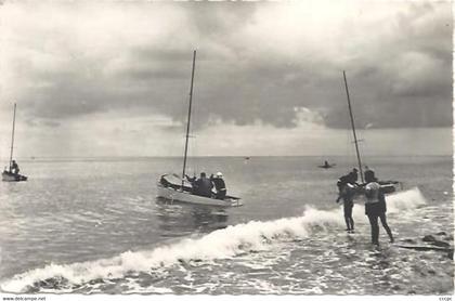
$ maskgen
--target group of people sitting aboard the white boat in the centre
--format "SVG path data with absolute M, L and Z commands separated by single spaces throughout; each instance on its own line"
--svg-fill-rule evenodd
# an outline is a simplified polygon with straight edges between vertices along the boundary
M 226 196 L 226 185 L 223 180 L 223 174 L 221 172 L 217 172 L 217 175 L 213 174 L 210 175 L 210 178 L 207 178 L 207 174 L 205 172 L 200 172 L 199 179 L 196 179 L 196 176 L 190 178 L 188 175 L 185 175 L 188 182 L 192 184 L 193 187 L 193 194 L 197 196 L 204 196 L 204 197 L 212 197 L 213 195 L 213 187 L 214 187 L 214 198 L 217 199 L 224 199 Z

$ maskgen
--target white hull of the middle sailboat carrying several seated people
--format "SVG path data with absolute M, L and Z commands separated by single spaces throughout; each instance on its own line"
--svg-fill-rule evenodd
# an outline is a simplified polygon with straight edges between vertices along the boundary
M 238 207 L 243 202 L 239 198 L 226 197 L 225 199 L 216 199 L 203 196 L 196 196 L 188 192 L 182 192 L 172 187 L 165 187 L 158 183 L 158 197 L 171 201 L 182 201 L 195 205 L 219 206 L 219 207 Z

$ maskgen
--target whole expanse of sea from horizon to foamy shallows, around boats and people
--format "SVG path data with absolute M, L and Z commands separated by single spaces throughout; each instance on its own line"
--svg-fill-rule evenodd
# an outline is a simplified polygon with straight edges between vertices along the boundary
M 453 246 L 452 157 L 366 157 L 399 180 L 388 221 L 396 243 L 354 206 L 355 234 L 335 202 L 354 165 L 321 157 L 192 158 L 188 173 L 222 171 L 244 206 L 219 209 L 156 198 L 179 158 L 21 161 L 25 183 L 0 183 L 0 289 L 4 292 L 174 295 L 453 293 L 453 261 L 416 251 L 434 235 Z M 442 233 L 444 232 L 444 233 Z M 412 239 L 412 240 L 410 240 Z M 411 241 L 411 243 L 410 243 Z

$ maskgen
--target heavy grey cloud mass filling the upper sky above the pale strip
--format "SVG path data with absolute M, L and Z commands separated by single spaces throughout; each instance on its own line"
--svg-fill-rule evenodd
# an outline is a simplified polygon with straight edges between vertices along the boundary
M 186 118 L 198 50 L 194 127 L 210 120 L 349 128 L 452 125 L 450 2 L 6 2 L 1 104 L 30 119 L 125 112 Z M 129 109 L 135 108 L 135 109 Z M 55 125 L 56 125 L 55 123 Z M 171 129 L 172 127 L 170 127 Z

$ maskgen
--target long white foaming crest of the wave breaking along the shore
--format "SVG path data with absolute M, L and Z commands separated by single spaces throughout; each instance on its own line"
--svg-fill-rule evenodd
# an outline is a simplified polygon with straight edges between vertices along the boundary
M 418 188 L 388 198 L 389 211 L 415 208 L 425 204 Z M 354 214 L 362 214 L 362 207 L 354 207 Z M 98 261 L 50 264 L 31 270 L 0 284 L 3 291 L 24 292 L 39 282 L 62 279 L 58 291 L 75 285 L 83 285 L 94 279 L 114 279 L 129 273 L 158 272 L 160 269 L 192 262 L 232 258 L 249 251 L 268 249 L 270 244 L 281 238 L 306 238 L 315 231 L 343 225 L 339 209 L 327 211 L 311 207 L 297 218 L 286 218 L 269 222 L 251 221 L 214 231 L 200 238 L 185 238 L 178 243 L 147 251 L 127 251 L 110 259 Z M 62 289 L 62 290 L 61 290 Z

